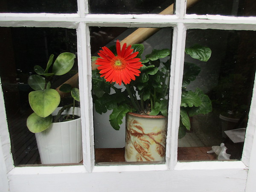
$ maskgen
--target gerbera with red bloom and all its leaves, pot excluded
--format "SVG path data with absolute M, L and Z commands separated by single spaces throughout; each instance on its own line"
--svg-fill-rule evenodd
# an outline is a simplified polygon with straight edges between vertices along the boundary
M 186 52 L 193 58 L 205 61 L 209 59 L 209 50 L 207 47 L 198 46 L 186 49 Z M 93 71 L 93 102 L 96 112 L 102 114 L 113 110 L 110 123 L 116 130 L 119 130 L 119 125 L 122 124 L 122 119 L 128 112 L 168 115 L 171 52 L 169 49 L 153 49 L 143 58 L 143 51 L 143 44 L 128 47 L 123 44 L 121 47 L 117 40 L 116 46 L 102 47 L 98 53 L 99 57 L 92 58 L 98 65 L 97 70 Z M 191 92 L 185 90 L 185 85 L 195 80 L 200 71 L 197 66 L 191 64 L 189 66 L 184 75 L 186 84 L 183 87 L 181 107 L 200 108 L 198 112 L 205 112 L 203 110 L 205 105 L 198 102 L 198 100 L 201 101 L 201 94 L 204 95 L 204 93 L 195 92 L 190 100 Z M 187 122 L 189 112 L 182 109 L 181 114 L 182 125 L 189 129 L 190 123 Z

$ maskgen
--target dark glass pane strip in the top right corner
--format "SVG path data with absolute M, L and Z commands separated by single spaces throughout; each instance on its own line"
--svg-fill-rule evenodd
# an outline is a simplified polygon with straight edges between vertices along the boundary
M 187 4 L 189 5 L 189 0 Z M 253 0 L 198 0 L 189 6 L 187 14 L 198 15 L 233 15 L 256 16 L 256 5 Z

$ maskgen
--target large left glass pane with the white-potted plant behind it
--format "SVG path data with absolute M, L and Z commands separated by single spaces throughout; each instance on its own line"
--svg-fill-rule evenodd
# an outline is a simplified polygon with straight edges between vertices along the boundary
M 61 101 L 59 106 L 73 106 L 73 98 L 70 93 L 57 92 L 55 89 L 71 77 L 74 78 L 73 83 L 72 81 L 69 83 L 73 84 L 73 87 L 77 87 L 78 85 L 77 76 L 74 76 L 77 73 L 77 62 L 76 58 L 74 58 L 76 56 L 76 30 L 1 27 L 0 34 L 2 42 L 0 46 L 0 55 L 2 58 L 2 62 L 0 63 L 0 77 L 15 166 L 60 163 L 62 157 L 64 161 L 61 163 L 67 163 L 70 159 L 74 163 L 73 160 L 77 159 L 77 156 L 73 157 L 71 154 L 67 154 L 68 152 L 66 153 L 60 149 L 58 149 L 58 152 L 62 154 L 57 154 L 57 152 L 53 151 L 54 148 L 61 146 L 67 148 L 68 145 L 67 143 L 62 143 L 62 145 L 61 143 L 53 143 L 54 141 L 60 142 L 60 137 L 64 140 L 69 140 L 64 135 L 64 132 L 61 134 L 55 132 L 52 136 L 52 132 L 58 131 L 58 125 L 62 126 L 66 122 L 55 122 L 53 125 L 51 124 L 52 119 L 49 115 L 58 107 L 60 95 Z M 54 55 L 54 64 L 47 71 L 46 66 L 51 54 Z M 73 62 L 74 65 L 72 64 Z M 61 67 L 64 70 L 60 69 Z M 66 73 L 70 68 L 72 70 Z M 52 73 L 55 75 L 53 76 Z M 66 74 L 61 75 L 62 73 Z M 48 81 L 51 84 L 47 83 Z M 73 89 L 72 93 L 76 93 L 76 89 Z M 28 94 L 31 95 L 28 96 Z M 79 107 L 79 102 L 76 101 L 75 105 Z M 34 116 L 30 116 L 33 113 L 32 108 L 38 116 L 35 114 Z M 71 111 L 72 109 L 73 107 L 71 107 Z M 74 115 L 78 115 L 79 111 L 79 108 L 75 109 Z M 65 113 L 66 111 L 62 114 Z M 47 117 L 44 118 L 44 116 Z M 70 119 L 67 115 L 61 117 Z M 81 121 L 81 118 L 67 122 L 76 122 L 79 124 L 79 121 Z M 35 136 L 27 128 L 26 122 L 33 132 L 47 129 L 41 133 L 37 133 Z M 57 128 L 53 128 L 56 125 Z M 70 130 L 70 132 L 76 133 L 76 130 Z M 37 137 L 37 141 L 35 137 Z M 44 143 L 47 140 L 48 143 Z M 40 155 L 38 148 L 39 151 L 41 150 Z M 48 154 L 47 151 L 49 152 Z M 58 157 L 52 156 L 56 154 Z M 64 157 L 64 154 L 67 154 L 67 156 Z

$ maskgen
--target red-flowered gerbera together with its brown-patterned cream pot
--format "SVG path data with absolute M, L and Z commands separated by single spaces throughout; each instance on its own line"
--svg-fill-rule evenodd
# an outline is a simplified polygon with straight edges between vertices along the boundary
M 93 71 L 93 102 L 100 114 L 113 110 L 110 123 L 116 130 L 126 116 L 126 161 L 162 161 L 166 146 L 171 52 L 153 49 L 142 60 L 143 50 L 143 44 L 128 47 L 124 44 L 121 48 L 119 41 L 116 47 L 102 47 L 98 53 L 100 57 L 93 57 L 99 65 L 98 70 Z M 208 48 L 206 51 L 198 46 L 189 51 L 194 58 L 199 52 L 209 57 Z M 186 76 L 187 81 L 195 76 L 190 73 Z M 124 87 L 120 86 L 122 83 Z M 189 93 L 184 94 L 182 107 L 200 107 L 202 94 L 194 94 L 191 101 Z M 184 119 L 186 115 L 181 113 L 183 124 Z

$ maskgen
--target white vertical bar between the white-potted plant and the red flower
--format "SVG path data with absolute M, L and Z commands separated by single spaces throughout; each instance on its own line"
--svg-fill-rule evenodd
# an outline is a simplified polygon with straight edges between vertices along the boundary
M 84 125 L 82 126 L 83 160 L 86 170 L 91 172 L 94 166 L 92 71 L 89 27 L 85 23 L 79 24 L 77 39 L 81 119 Z

